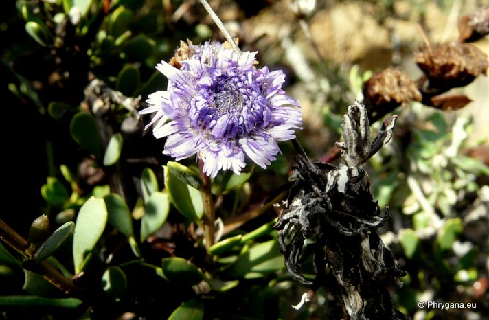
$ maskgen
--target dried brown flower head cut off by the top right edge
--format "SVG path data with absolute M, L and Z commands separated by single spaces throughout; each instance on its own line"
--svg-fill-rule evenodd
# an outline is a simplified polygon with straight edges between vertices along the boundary
M 471 14 L 464 14 L 458 22 L 459 40 L 477 41 L 489 34 L 489 5 L 478 8 Z

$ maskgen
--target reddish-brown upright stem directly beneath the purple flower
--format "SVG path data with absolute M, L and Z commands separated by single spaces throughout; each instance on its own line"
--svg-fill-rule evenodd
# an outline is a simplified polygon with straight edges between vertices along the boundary
M 209 249 L 215 242 L 216 228 L 214 227 L 214 222 L 216 220 L 216 208 L 214 207 L 214 198 L 212 198 L 211 191 L 211 179 L 203 172 L 204 162 L 198 159 L 198 170 L 201 173 L 204 185 L 201 188 L 201 196 L 204 204 L 204 217 L 203 217 L 203 227 L 204 227 L 204 239 L 205 248 Z

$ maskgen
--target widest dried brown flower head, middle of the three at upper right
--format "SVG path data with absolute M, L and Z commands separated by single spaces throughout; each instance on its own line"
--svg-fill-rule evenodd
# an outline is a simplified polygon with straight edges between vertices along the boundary
M 414 53 L 414 60 L 429 79 L 429 87 L 437 89 L 464 87 L 488 69 L 486 54 L 468 43 L 425 45 Z

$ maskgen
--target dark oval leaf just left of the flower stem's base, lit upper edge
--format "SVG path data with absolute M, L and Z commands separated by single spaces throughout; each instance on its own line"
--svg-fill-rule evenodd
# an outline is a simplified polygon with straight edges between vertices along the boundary
M 165 279 L 179 284 L 179 286 L 193 286 L 204 278 L 195 264 L 179 257 L 162 259 L 161 269 Z

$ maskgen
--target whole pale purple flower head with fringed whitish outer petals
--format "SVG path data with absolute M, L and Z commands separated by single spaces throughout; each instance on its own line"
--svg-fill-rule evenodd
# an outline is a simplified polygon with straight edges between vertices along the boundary
M 256 69 L 255 54 L 190 43 L 179 69 L 157 65 L 168 88 L 150 94 L 141 113 L 155 113 L 146 128 L 155 124 L 155 137 L 167 137 L 163 154 L 177 161 L 197 154 L 212 177 L 219 170 L 239 174 L 245 155 L 262 168 L 275 160 L 277 141 L 295 138 L 301 112 L 282 90 L 284 73 Z

